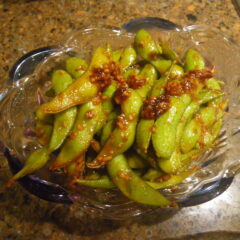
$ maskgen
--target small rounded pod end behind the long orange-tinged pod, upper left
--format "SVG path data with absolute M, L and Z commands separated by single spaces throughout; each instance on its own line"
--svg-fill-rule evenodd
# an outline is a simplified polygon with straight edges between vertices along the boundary
M 79 78 L 87 70 L 88 64 L 80 57 L 70 57 L 65 62 L 65 68 L 73 78 Z

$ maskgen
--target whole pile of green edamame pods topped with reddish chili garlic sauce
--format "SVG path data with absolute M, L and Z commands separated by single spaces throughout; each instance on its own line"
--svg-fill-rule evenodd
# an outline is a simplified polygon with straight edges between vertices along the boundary
M 129 199 L 173 205 L 158 189 L 175 187 L 214 147 L 227 101 L 201 54 L 181 59 L 144 29 L 134 43 L 98 47 L 90 63 L 69 57 L 53 71 L 54 96 L 35 113 L 34 151 L 9 185 L 46 164 L 71 184 L 118 188 Z

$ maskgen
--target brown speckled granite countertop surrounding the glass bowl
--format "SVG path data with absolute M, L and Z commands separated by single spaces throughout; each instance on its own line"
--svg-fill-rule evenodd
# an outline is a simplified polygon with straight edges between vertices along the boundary
M 0 0 L 0 88 L 12 64 L 35 48 L 58 44 L 74 29 L 120 27 L 137 17 L 161 17 L 181 25 L 204 23 L 240 43 L 240 21 L 230 0 Z M 0 239 L 240 239 L 240 176 L 219 197 L 164 216 L 110 221 L 75 206 L 47 203 L 19 185 L 0 156 Z M 191 237 L 190 237 L 191 236 Z

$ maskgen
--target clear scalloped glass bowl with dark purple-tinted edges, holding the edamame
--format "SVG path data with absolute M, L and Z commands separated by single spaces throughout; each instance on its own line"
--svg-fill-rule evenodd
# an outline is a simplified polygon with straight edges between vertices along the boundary
M 134 20 L 122 29 L 102 27 L 79 30 L 67 36 L 59 46 L 43 48 L 24 56 L 20 62 L 30 59 L 31 66 L 27 65 L 31 71 L 20 71 L 20 62 L 15 65 L 11 77 L 17 81 L 6 82 L 0 91 L 0 141 L 4 144 L 4 154 L 13 173 L 19 171 L 29 154 L 40 147 L 36 139 L 26 137 L 25 130 L 34 126 L 34 111 L 39 105 L 38 93 L 39 90 L 47 90 L 52 70 L 61 68 L 63 61 L 69 56 L 89 60 L 92 50 L 100 45 L 110 43 L 113 50 L 126 47 L 133 42 L 133 32 L 143 27 L 155 39 L 161 36 L 168 41 L 181 57 L 190 47 L 199 50 L 206 61 L 215 66 L 215 77 L 225 83 L 223 91 L 226 93 L 225 98 L 229 100 L 217 144 L 193 162 L 200 169 L 176 189 L 164 189 L 162 193 L 180 207 L 186 207 L 218 196 L 231 184 L 240 169 L 239 47 L 215 28 L 204 25 L 179 27 L 164 20 L 149 18 L 148 21 Z M 42 53 L 41 56 L 38 55 L 39 52 Z M 16 75 L 17 69 L 22 76 Z M 68 188 L 64 184 L 64 176 L 49 171 L 47 167 L 20 179 L 19 182 L 30 193 L 42 199 L 78 204 L 88 213 L 105 218 L 121 219 L 156 209 L 136 204 L 116 189 L 102 190 L 84 186 Z

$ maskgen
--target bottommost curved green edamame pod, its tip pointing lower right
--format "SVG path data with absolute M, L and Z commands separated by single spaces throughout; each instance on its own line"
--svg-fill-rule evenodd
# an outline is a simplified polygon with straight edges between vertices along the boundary
M 107 171 L 120 191 L 135 202 L 161 207 L 171 204 L 161 193 L 147 185 L 130 169 L 124 155 L 118 155 L 108 162 Z

